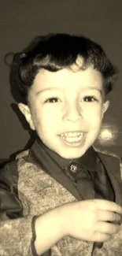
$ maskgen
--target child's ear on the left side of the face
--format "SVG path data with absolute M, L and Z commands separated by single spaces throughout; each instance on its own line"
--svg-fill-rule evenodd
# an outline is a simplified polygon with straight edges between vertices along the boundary
M 20 109 L 20 112 L 24 114 L 24 117 L 28 121 L 28 124 L 30 125 L 30 128 L 32 130 L 35 130 L 35 125 L 34 125 L 34 123 L 32 121 L 31 111 L 30 111 L 28 105 L 24 105 L 23 103 L 19 103 L 18 107 Z

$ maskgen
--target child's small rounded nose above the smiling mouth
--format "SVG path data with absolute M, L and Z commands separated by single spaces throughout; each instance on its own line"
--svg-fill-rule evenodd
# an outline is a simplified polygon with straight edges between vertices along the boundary
M 81 114 L 81 109 L 79 109 L 79 106 L 76 105 L 69 105 L 67 106 L 67 108 L 65 109 L 65 114 L 63 116 L 63 119 L 65 121 L 72 121 L 73 123 L 75 123 L 76 121 L 79 120 L 79 118 L 82 117 Z

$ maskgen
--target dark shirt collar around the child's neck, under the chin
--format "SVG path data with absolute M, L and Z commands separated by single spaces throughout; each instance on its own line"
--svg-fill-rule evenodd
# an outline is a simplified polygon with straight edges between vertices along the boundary
M 80 158 L 73 158 L 73 159 L 66 159 L 61 158 L 57 153 L 55 153 L 53 150 L 50 150 L 48 147 L 46 147 L 45 144 L 37 137 L 35 139 L 35 143 L 32 145 L 29 154 L 28 154 L 28 160 L 31 158 L 31 153 L 36 153 L 38 150 L 39 159 L 41 162 L 41 156 L 42 156 L 42 150 L 47 154 L 50 158 L 52 158 L 53 161 L 57 163 L 57 165 L 61 169 L 66 169 L 71 163 L 75 163 L 78 167 L 87 169 L 91 172 L 97 172 L 97 155 L 93 147 L 90 147 L 85 154 L 83 154 Z M 43 155 L 44 156 L 44 155 Z M 43 159 L 44 160 L 44 159 Z

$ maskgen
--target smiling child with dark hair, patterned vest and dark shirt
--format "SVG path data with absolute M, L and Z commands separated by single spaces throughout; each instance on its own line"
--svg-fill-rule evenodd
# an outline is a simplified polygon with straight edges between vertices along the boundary
M 120 159 L 93 147 L 116 69 L 83 36 L 37 37 L 11 67 L 37 139 L 0 176 L 0 255 L 122 254 Z

